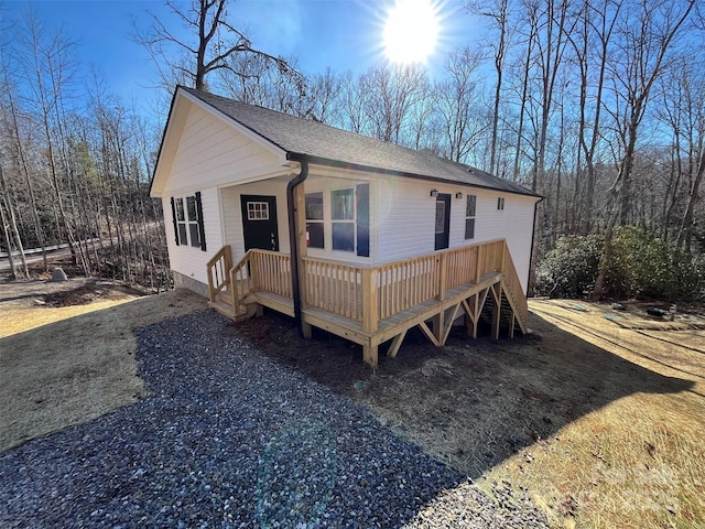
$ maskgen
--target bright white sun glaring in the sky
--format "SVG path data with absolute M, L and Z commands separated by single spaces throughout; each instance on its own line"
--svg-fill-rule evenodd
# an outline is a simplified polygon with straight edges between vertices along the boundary
M 424 63 L 438 40 L 438 14 L 432 0 L 397 0 L 387 12 L 384 53 L 395 63 Z

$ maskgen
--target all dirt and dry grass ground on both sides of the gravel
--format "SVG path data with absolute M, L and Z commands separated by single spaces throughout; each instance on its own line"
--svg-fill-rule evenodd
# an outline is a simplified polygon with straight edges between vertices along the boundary
M 0 451 L 143 395 L 134 330 L 205 300 L 137 294 L 87 280 L 0 283 Z M 705 527 L 703 314 L 530 309 L 527 336 L 495 342 L 480 328 L 468 339 L 458 327 L 436 348 L 410 332 L 397 358 L 380 350 L 376 370 L 359 346 L 316 330 L 305 341 L 273 312 L 237 328 L 480 487 L 525 487 L 557 527 Z

